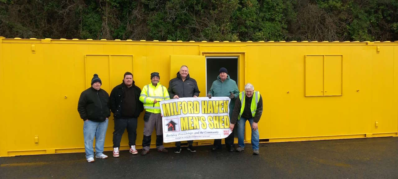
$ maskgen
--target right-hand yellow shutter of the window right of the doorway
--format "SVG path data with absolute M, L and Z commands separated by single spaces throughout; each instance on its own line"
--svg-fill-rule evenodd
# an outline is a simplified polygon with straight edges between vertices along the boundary
M 324 95 L 341 95 L 341 55 L 324 56 Z

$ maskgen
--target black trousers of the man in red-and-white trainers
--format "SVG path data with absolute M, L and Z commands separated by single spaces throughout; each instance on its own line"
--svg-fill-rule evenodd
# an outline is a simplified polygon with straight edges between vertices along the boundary
M 129 146 L 135 146 L 137 139 L 137 118 L 115 119 L 115 131 L 113 132 L 113 148 L 120 147 L 123 133 L 127 129 Z

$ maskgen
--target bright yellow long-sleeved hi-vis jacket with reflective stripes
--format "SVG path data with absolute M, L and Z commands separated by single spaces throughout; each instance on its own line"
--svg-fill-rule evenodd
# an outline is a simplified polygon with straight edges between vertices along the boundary
M 167 88 L 160 83 L 156 86 L 153 86 L 152 83 L 145 85 L 140 94 L 140 101 L 144 103 L 146 111 L 158 114 L 160 113 L 160 105 L 159 103 L 153 103 L 155 99 L 158 102 L 170 99 Z

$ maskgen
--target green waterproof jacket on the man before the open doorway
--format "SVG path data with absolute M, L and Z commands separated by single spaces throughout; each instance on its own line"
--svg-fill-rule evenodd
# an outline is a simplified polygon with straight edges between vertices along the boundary
M 221 82 L 220 76 L 217 76 L 217 80 L 213 82 L 210 91 L 207 94 L 211 94 L 211 96 L 215 97 L 229 97 L 231 95 L 229 91 L 235 95 L 235 98 L 231 99 L 229 105 L 229 116 L 232 116 L 232 110 L 234 110 L 235 106 L 235 99 L 239 97 L 239 90 L 236 82 L 229 78 L 229 75 L 227 75 L 227 78 L 224 82 Z

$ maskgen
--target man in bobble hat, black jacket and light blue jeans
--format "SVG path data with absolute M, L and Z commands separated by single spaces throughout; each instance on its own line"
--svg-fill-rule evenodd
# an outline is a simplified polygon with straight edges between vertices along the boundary
M 86 160 L 94 162 L 93 141 L 96 137 L 96 158 L 108 158 L 103 154 L 105 134 L 108 128 L 109 95 L 101 89 L 101 79 L 94 74 L 91 80 L 91 87 L 80 94 L 77 110 L 80 118 L 84 121 L 83 135 L 84 148 L 86 149 Z

